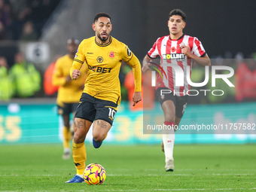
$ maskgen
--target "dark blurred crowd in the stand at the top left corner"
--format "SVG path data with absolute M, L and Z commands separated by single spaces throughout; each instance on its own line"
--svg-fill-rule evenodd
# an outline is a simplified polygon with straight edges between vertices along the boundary
M 35 41 L 60 0 L 0 0 L 0 40 Z

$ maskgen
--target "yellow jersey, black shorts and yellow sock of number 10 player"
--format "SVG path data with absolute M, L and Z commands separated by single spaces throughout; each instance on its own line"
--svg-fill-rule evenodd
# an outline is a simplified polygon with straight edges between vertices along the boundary
M 75 117 L 93 120 L 105 120 L 112 124 L 117 105 L 120 104 L 119 72 L 121 62 L 127 62 L 133 68 L 135 77 L 135 91 L 142 88 L 142 71 L 139 59 L 133 52 L 117 39 L 110 37 L 108 44 L 98 44 L 96 37 L 84 39 L 78 47 L 78 52 L 70 69 L 81 69 L 87 64 L 87 80 L 84 84 L 84 93 L 81 96 Z M 84 172 L 87 159 L 83 143 L 73 142 L 73 160 L 77 174 Z

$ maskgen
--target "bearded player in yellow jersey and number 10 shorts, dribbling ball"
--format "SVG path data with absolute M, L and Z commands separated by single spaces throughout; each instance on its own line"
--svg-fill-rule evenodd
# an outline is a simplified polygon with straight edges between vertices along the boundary
M 84 181 L 83 172 L 87 154 L 84 139 L 93 123 L 93 146 L 99 148 L 108 131 L 120 104 L 120 81 L 118 78 L 122 60 L 133 68 L 135 92 L 133 105 L 142 100 L 142 71 L 139 59 L 120 41 L 109 34 L 112 29 L 111 17 L 105 13 L 96 14 L 93 30 L 96 36 L 84 39 L 78 47 L 70 70 L 72 79 L 81 75 L 85 62 L 88 66 L 84 93 L 81 96 L 74 120 L 73 159 L 77 175 L 66 183 Z

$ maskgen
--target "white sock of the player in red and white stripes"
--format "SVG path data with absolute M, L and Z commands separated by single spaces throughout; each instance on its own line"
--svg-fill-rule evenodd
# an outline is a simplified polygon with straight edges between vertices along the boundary
M 175 141 L 174 130 L 170 134 L 163 134 L 163 145 L 164 145 L 164 154 L 166 155 L 166 163 L 169 160 L 173 160 L 173 146 Z

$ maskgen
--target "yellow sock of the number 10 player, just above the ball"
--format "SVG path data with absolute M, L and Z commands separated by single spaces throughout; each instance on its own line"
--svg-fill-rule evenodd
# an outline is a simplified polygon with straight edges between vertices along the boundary
M 77 169 L 78 175 L 83 175 L 85 168 L 85 161 L 87 160 L 87 152 L 85 150 L 84 142 L 76 144 L 73 141 L 73 160 L 75 163 L 75 169 Z

